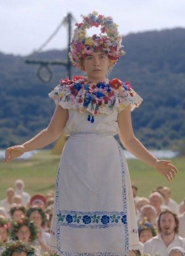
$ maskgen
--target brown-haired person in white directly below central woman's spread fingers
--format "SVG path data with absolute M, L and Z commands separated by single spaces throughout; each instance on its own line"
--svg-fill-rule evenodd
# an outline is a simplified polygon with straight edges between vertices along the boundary
M 179 205 L 170 198 L 171 190 L 168 187 L 163 187 L 162 189 L 164 194 L 164 205 L 166 205 L 169 210 L 171 210 L 173 213 L 176 213 L 176 215 L 179 215 Z

